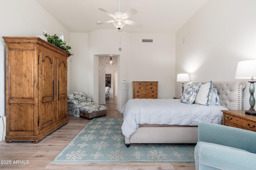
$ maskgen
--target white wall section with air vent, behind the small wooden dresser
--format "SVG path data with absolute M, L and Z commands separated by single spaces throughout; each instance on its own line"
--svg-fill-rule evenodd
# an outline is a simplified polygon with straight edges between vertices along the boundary
M 142 43 L 153 39 L 153 43 Z M 129 98 L 132 81 L 158 81 L 158 98 L 174 97 L 175 34 L 131 34 L 129 56 Z

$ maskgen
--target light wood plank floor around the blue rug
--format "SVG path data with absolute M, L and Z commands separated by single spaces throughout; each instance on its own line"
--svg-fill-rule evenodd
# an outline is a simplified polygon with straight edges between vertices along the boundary
M 122 118 L 116 110 L 117 99 L 106 100 L 107 118 Z M 74 164 L 52 163 L 52 159 L 90 122 L 68 115 L 68 124 L 60 127 L 39 143 L 0 141 L 0 169 L 6 170 L 195 170 L 195 164 L 119 163 Z M 17 162 L 18 161 L 18 162 Z M 7 164 L 10 162 L 10 164 Z M 17 162 L 18 164 L 15 164 Z

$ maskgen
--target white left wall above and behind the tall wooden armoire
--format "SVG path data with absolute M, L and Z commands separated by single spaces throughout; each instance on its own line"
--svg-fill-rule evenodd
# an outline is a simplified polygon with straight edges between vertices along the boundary
M 64 41 L 69 45 L 70 32 L 35 0 L 2 0 L 0 4 L 0 119 L 2 119 L 6 114 L 6 45 L 2 37 L 34 37 L 42 35 L 42 30 L 46 30 L 49 35 L 64 33 Z

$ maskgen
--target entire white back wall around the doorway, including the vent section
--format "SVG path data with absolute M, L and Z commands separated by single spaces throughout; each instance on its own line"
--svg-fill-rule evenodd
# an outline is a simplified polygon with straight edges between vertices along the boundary
M 71 47 L 80 45 L 72 50 L 76 53 L 72 62 L 77 60 L 80 65 L 79 71 L 84 74 L 83 76 L 87 76 L 87 82 L 77 83 L 76 88 L 87 90 L 96 104 L 99 102 L 98 56 L 104 54 L 118 55 L 119 109 L 122 109 L 127 100 L 132 98 L 132 81 L 158 81 L 158 98 L 174 96 L 175 34 L 135 34 L 101 29 L 89 32 L 88 38 L 83 35 L 84 33 L 71 33 Z M 118 50 L 120 36 L 122 51 Z M 81 45 L 80 39 L 84 39 L 86 43 Z M 142 43 L 142 39 L 153 39 L 153 43 Z M 88 49 L 88 56 L 76 52 L 81 47 L 84 50 Z M 77 67 L 77 64 L 70 66 L 72 71 L 70 74 L 73 76 L 72 79 L 77 80 L 81 74 L 78 70 L 74 71 L 73 66 Z M 122 80 L 126 80 L 126 83 L 122 83 Z M 122 87 L 125 89 L 122 90 Z

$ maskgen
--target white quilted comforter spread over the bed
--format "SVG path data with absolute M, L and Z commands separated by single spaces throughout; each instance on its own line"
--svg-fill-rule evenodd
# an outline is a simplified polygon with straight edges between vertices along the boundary
M 130 99 L 121 111 L 122 133 L 129 139 L 142 124 L 197 126 L 199 121 L 222 124 L 221 110 L 228 109 L 219 105 L 184 104 L 177 99 Z

